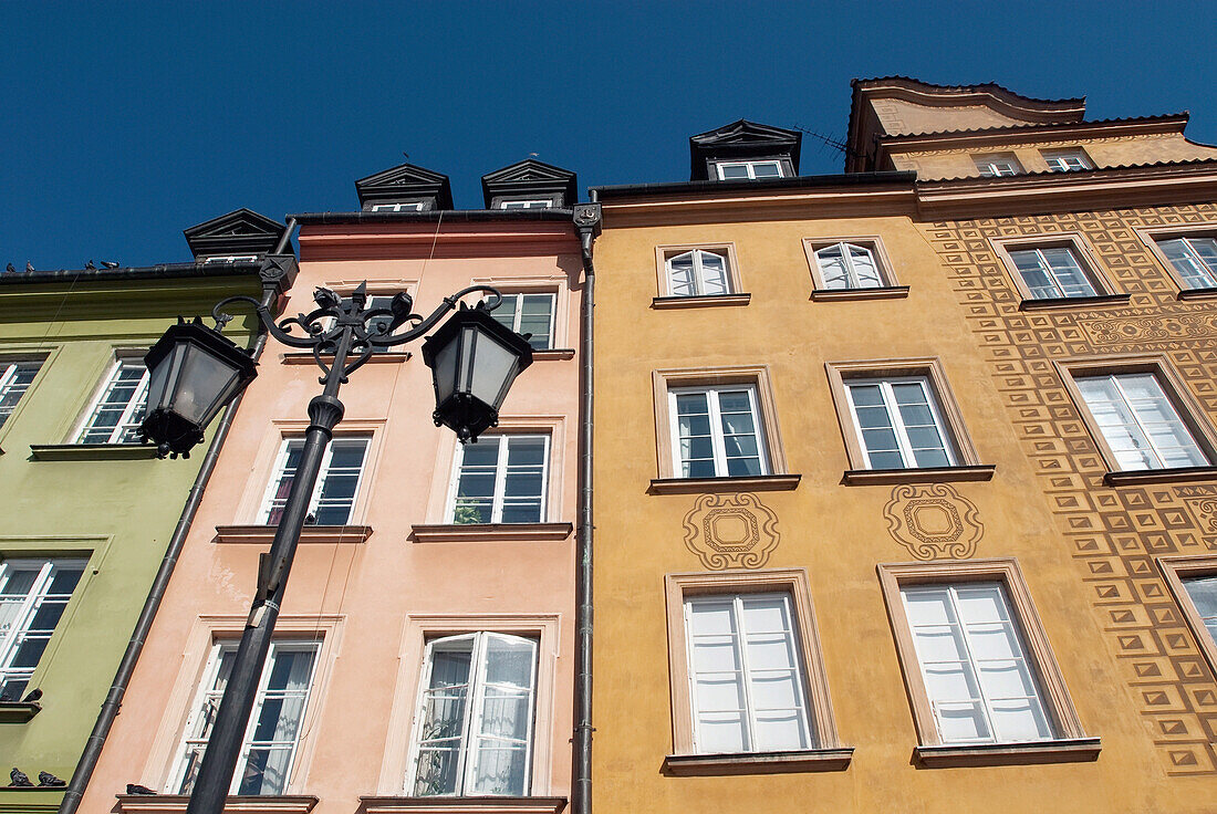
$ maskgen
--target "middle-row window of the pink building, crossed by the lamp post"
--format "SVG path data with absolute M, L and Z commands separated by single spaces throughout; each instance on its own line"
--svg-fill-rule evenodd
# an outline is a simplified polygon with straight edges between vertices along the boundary
M 284 440 L 275 462 L 275 475 L 267 487 L 263 500 L 260 523 L 277 526 L 287 505 L 301 455 L 304 451 L 302 438 Z M 315 526 L 346 526 L 350 520 L 350 510 L 359 495 L 359 479 L 368 453 L 368 438 L 335 438 L 330 442 L 321 459 L 321 472 L 313 489 L 305 522 Z

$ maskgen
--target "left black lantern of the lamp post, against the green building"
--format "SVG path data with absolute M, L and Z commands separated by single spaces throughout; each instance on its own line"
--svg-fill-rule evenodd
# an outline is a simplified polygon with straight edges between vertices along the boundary
M 220 409 L 257 376 L 257 363 L 197 318 L 180 316 L 144 357 L 148 369 L 144 440 L 162 457 L 189 456 Z

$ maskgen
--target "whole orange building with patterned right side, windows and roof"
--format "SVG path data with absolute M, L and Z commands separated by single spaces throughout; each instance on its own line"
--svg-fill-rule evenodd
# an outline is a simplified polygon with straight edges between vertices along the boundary
M 873 79 L 845 175 L 741 120 L 593 190 L 601 812 L 1212 808 L 1185 123 Z

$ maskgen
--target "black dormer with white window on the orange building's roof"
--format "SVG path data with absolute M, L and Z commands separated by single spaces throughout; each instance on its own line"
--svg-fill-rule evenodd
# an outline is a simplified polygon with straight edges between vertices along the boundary
M 742 169 L 741 178 L 790 178 L 798 175 L 802 134 L 770 124 L 740 119 L 708 133 L 689 137 L 689 179 L 692 181 L 731 178 L 722 165 Z M 775 170 L 776 168 L 776 170 Z M 757 174 L 763 170 L 763 175 Z M 773 173 L 778 174 L 774 175 Z

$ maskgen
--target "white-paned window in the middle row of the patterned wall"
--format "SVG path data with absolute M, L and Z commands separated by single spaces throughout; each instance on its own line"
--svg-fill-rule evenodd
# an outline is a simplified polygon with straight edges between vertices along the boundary
M 1115 457 L 1115 468 L 1163 470 L 1210 464 L 1154 372 L 1075 376 L 1073 381 Z

